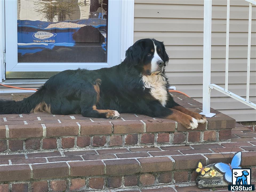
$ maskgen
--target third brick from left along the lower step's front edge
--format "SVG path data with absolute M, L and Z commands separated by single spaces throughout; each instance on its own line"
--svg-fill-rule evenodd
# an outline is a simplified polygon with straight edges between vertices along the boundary
M 102 161 L 69 162 L 70 176 L 103 175 L 105 166 Z

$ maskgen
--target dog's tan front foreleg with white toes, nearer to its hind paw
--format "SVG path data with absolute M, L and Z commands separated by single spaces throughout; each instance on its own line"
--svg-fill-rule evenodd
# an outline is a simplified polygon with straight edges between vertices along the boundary
M 198 126 L 197 120 L 190 115 L 187 115 L 185 113 L 182 113 L 181 111 L 171 109 L 173 112 L 171 115 L 168 115 L 165 117 L 166 119 L 172 119 L 174 121 L 177 121 L 181 123 L 184 127 L 187 129 L 195 129 Z

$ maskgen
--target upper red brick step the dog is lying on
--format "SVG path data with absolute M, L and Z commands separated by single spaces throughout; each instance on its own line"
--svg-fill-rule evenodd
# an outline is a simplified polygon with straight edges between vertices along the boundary
M 175 121 L 146 115 L 121 114 L 118 119 L 104 119 L 38 113 L 1 115 L 0 124 L 0 152 L 10 152 L 217 143 L 230 141 L 235 120 L 218 113 L 189 130 Z

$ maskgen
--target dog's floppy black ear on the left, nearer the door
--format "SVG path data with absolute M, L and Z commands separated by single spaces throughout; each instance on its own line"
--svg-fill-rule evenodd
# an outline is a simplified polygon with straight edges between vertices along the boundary
M 138 65 L 142 61 L 142 52 L 145 47 L 145 41 L 138 40 L 130 46 L 125 53 L 125 60 L 132 65 Z

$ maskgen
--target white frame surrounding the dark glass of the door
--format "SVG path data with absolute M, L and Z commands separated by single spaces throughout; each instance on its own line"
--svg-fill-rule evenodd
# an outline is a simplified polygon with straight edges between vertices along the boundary
M 5 23 L 8 24 L 5 25 L 5 42 L 0 43 L 1 46 L 6 45 L 6 71 L 62 71 L 78 67 L 99 69 L 118 65 L 125 57 L 125 50 L 133 45 L 134 0 L 109 0 L 108 7 L 107 63 L 18 63 L 17 1 L 5 0 Z

